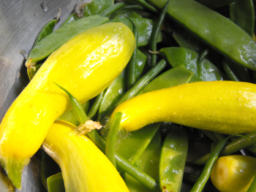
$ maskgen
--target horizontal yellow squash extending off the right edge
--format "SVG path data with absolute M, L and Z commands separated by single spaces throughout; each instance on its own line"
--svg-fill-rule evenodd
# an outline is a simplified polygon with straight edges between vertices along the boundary
M 256 85 L 192 82 L 135 96 L 115 112 L 123 113 L 120 128 L 127 131 L 173 122 L 224 134 L 247 133 L 256 130 Z

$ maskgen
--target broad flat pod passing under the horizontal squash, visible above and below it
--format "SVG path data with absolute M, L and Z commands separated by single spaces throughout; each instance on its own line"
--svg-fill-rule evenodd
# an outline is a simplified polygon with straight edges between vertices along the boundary
M 189 82 L 192 77 L 192 72 L 186 69 L 183 65 L 176 66 L 173 69 L 164 72 L 156 77 L 152 82 L 148 83 L 142 91 L 138 93 L 146 93 L 149 91 L 159 90 L 162 88 L 170 88 L 172 86 L 180 85 Z M 117 151 L 124 158 L 129 159 L 132 164 L 138 159 L 141 153 L 146 149 L 148 143 L 154 137 L 161 124 L 155 123 L 142 128 L 142 130 L 132 131 L 129 137 L 119 135 Z

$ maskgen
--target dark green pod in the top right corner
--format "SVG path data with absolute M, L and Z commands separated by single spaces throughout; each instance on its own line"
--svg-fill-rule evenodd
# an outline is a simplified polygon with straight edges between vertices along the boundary
M 230 20 L 253 37 L 255 29 L 255 11 L 252 0 L 235 0 L 230 4 Z

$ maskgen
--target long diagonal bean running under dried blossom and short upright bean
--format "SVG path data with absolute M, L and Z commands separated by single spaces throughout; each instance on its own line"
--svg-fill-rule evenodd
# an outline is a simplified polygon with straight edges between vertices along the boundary
M 85 123 L 86 120 L 89 120 L 89 118 L 87 118 L 87 115 L 84 112 L 83 108 L 80 107 L 79 101 L 77 99 L 75 99 L 75 97 L 72 96 L 64 88 L 61 88 L 61 89 L 64 90 L 68 94 L 69 99 L 72 103 L 72 107 L 75 110 L 75 114 L 78 115 L 79 122 Z M 105 152 L 105 146 L 106 146 L 105 140 L 99 136 L 97 131 L 92 130 L 89 133 L 87 133 L 87 135 L 89 136 L 91 141 L 94 142 L 94 144 L 97 145 L 97 147 L 99 147 L 99 150 L 102 150 L 102 152 Z M 132 165 L 125 158 L 122 158 L 120 155 L 118 155 L 118 153 L 115 154 L 115 157 L 116 157 L 116 165 L 119 169 L 121 169 L 123 172 L 127 172 L 129 175 L 134 177 L 136 180 L 140 181 L 140 183 L 143 183 L 143 185 L 146 185 L 146 187 L 148 187 L 152 191 L 159 191 L 159 185 L 152 177 L 150 177 L 148 174 L 142 172 L 136 166 Z

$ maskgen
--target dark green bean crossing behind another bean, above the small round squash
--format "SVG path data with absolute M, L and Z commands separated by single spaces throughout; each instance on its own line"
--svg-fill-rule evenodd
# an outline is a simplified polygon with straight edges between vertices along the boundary
M 230 155 L 230 154 L 236 153 L 239 150 L 242 150 L 246 147 L 256 144 L 256 131 L 246 134 L 246 137 L 248 137 L 250 139 L 250 141 L 248 139 L 238 138 L 235 141 L 227 144 L 227 146 L 225 147 L 224 150 L 222 150 L 222 153 L 220 153 L 220 155 Z M 208 160 L 209 155 L 210 155 L 210 153 L 203 155 L 203 157 L 193 161 L 192 164 L 195 164 L 195 165 L 206 164 L 206 161 Z

